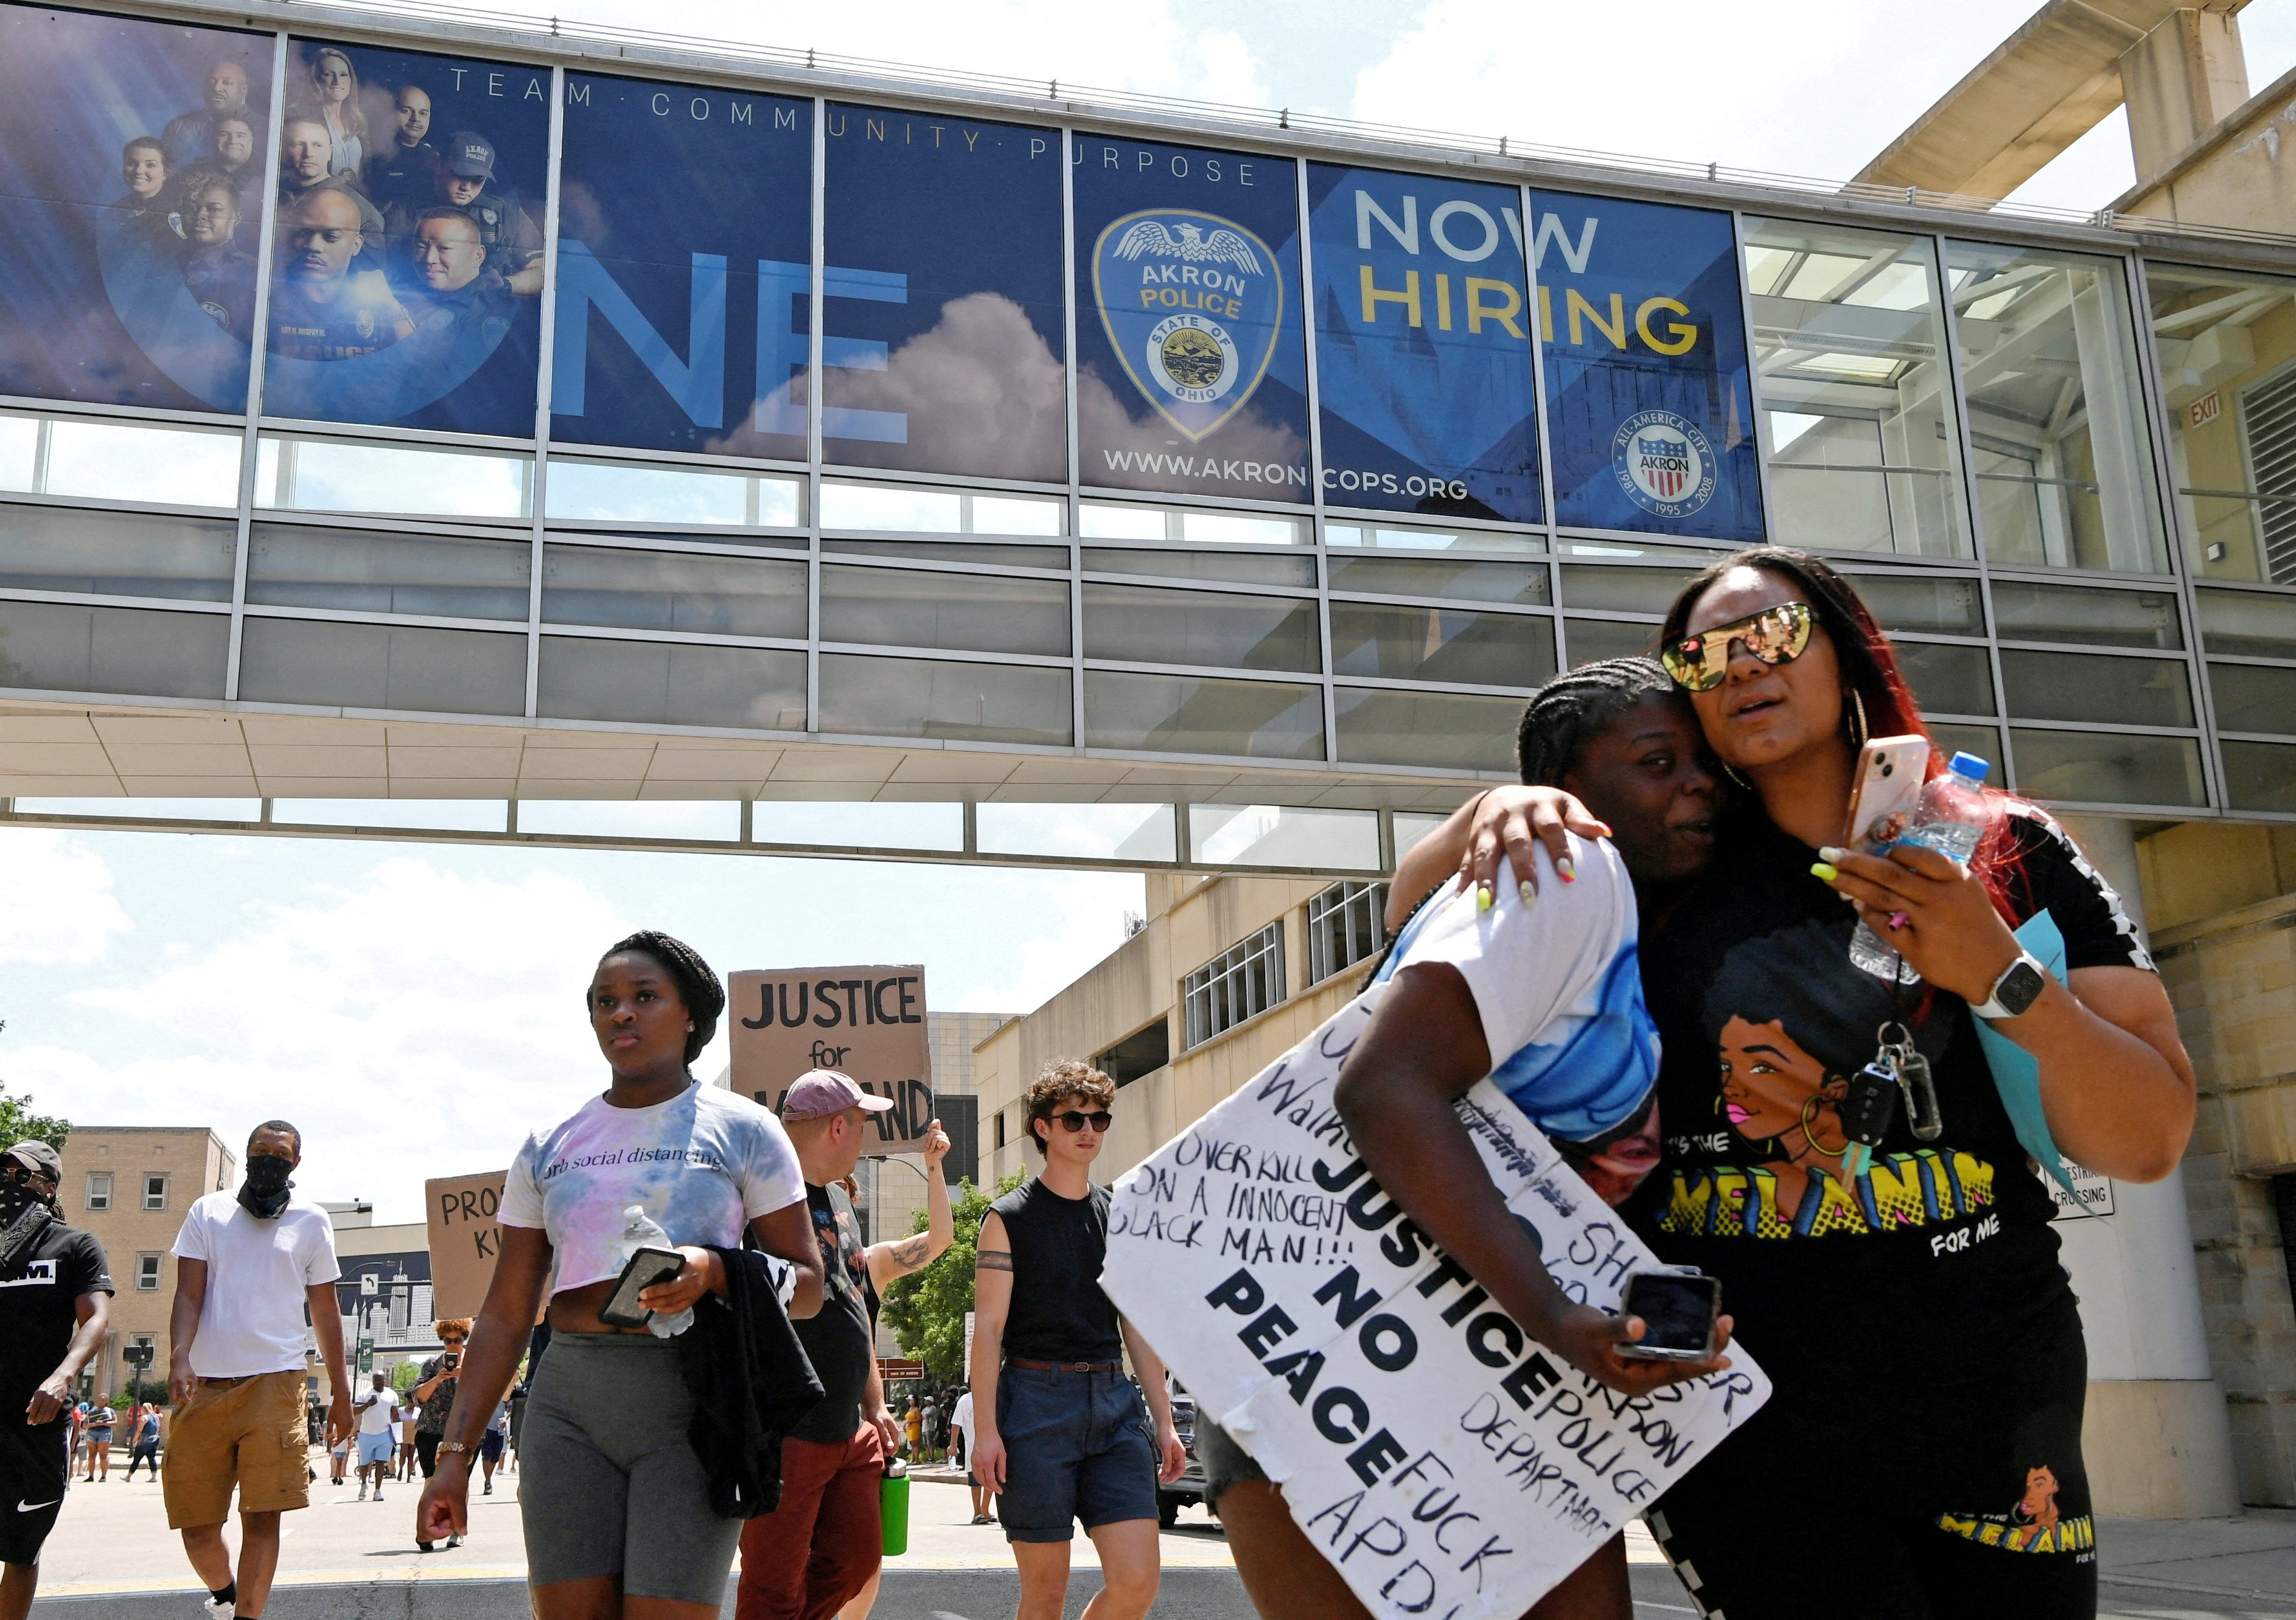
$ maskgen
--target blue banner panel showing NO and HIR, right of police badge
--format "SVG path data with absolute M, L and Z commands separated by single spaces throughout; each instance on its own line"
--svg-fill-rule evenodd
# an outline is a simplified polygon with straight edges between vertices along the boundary
M 1322 498 L 1536 523 L 1513 186 L 1309 163 Z

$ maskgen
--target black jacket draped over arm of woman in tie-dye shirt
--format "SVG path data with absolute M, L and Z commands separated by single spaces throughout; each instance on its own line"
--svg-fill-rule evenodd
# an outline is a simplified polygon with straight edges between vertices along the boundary
M 703 1294 L 680 1338 L 693 1423 L 687 1441 L 709 1475 L 721 1519 L 755 1519 L 781 1505 L 781 1439 L 822 1400 L 822 1381 L 774 1292 L 769 1260 L 714 1248 L 726 1299 Z

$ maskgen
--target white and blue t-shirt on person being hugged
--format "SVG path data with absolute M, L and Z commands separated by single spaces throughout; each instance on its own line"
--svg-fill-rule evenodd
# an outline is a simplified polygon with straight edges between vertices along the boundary
M 1538 899 L 1502 867 L 1490 911 L 1451 879 L 1396 938 L 1384 984 L 1419 961 L 1467 980 L 1490 1081 L 1548 1136 L 1584 1143 L 1632 1117 L 1658 1083 L 1658 1023 L 1642 1003 L 1635 883 L 1609 842 L 1570 838 L 1575 883 L 1538 847 Z

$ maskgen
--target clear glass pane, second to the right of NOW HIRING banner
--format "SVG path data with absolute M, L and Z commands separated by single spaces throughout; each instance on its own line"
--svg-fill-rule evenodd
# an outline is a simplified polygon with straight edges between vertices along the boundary
M 2165 574 L 2122 264 L 1956 241 L 1947 268 L 1986 555 Z

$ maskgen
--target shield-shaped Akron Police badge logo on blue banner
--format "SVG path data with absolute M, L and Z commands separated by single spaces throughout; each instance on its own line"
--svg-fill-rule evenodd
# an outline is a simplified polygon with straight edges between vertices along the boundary
M 1189 209 L 1143 209 L 1100 232 L 1093 301 L 1125 376 L 1192 441 L 1244 408 L 1283 330 L 1267 243 Z

